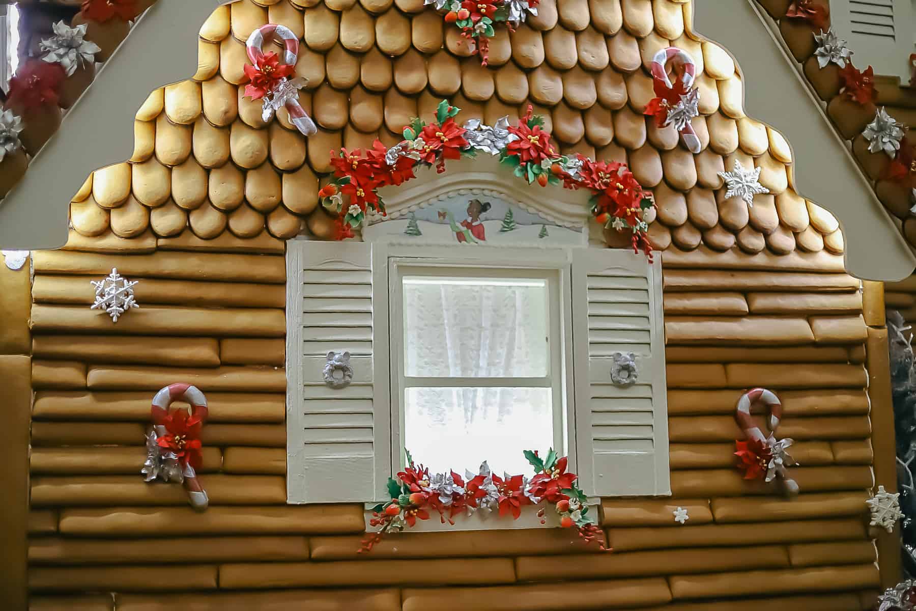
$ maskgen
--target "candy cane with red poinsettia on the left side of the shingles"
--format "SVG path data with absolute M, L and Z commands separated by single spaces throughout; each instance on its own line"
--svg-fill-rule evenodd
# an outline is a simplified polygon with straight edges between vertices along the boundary
M 265 40 L 277 37 L 283 41 L 283 64 L 278 64 L 273 53 L 264 53 Z M 299 104 L 299 90 L 305 85 L 303 79 L 289 80 L 292 67 L 299 57 L 299 38 L 286 26 L 267 24 L 258 27 L 245 42 L 245 51 L 251 66 L 245 66 L 245 74 L 251 84 L 245 88 L 245 95 L 253 100 L 264 98 L 262 118 L 265 122 L 280 108 L 289 111 L 289 121 L 296 125 L 303 136 L 311 136 L 318 131 L 311 117 Z

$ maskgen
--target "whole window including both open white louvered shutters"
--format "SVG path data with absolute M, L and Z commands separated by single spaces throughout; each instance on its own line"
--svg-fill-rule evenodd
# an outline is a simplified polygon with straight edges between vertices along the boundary
M 383 500 L 405 447 L 432 471 L 528 473 L 522 450 L 552 446 L 586 494 L 671 494 L 659 261 L 291 240 L 287 274 L 289 502 Z M 616 353 L 635 384 L 611 380 Z

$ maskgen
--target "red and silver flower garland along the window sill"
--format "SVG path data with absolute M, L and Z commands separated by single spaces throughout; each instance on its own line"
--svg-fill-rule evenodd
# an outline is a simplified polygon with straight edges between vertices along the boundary
M 439 514 L 442 524 L 448 521 L 452 525 L 455 516 L 470 516 L 474 511 L 496 511 L 500 518 L 511 515 L 518 519 L 521 507 L 542 502 L 560 514 L 562 528 L 575 529 L 585 543 L 596 541 L 601 550 L 610 551 L 597 519 L 589 513 L 585 493 L 576 485 L 577 476 L 566 470 L 566 457 L 551 448 L 545 458 L 530 450 L 525 451 L 525 458 L 537 472 L 530 480 L 524 475 L 500 477 L 486 462 L 480 465 L 479 473 L 465 472 L 462 478 L 454 471 L 430 475 L 430 470 L 415 464 L 408 452 L 408 465 L 398 473 L 398 479 L 388 478 L 391 500 L 372 509 L 369 525 L 380 528 L 368 534 L 359 551 L 372 551 L 386 535 L 413 527 L 418 519 L 429 519 L 432 513 Z M 546 510 L 541 508 L 541 524 L 546 522 L 545 516 Z

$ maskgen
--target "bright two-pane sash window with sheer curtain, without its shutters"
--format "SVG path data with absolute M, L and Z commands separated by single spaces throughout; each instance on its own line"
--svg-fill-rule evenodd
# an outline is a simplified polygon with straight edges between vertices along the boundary
M 391 261 L 392 413 L 432 471 L 565 453 L 559 270 Z M 402 464 L 398 464 L 402 466 Z

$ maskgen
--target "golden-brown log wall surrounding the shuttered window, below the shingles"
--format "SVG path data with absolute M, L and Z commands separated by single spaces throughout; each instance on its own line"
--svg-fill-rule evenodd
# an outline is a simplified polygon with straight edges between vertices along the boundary
M 34 254 L 30 608 L 724 611 L 749 596 L 751 609 L 854 611 L 874 600 L 867 328 L 839 256 L 664 255 L 673 495 L 603 499 L 613 553 L 562 529 L 497 529 L 405 533 L 364 556 L 362 507 L 286 505 L 282 243 L 117 246 Z M 117 324 L 86 297 L 112 267 L 140 280 L 141 308 Z M 177 380 L 211 404 L 200 514 L 180 486 L 139 475 L 150 398 Z M 758 385 L 785 403 L 796 500 L 732 466 L 736 398 Z

